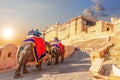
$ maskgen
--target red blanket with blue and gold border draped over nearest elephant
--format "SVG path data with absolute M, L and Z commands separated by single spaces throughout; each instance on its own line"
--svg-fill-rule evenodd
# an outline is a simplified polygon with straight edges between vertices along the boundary
M 38 37 L 31 37 L 28 38 L 26 40 L 24 40 L 24 42 L 34 42 L 35 46 L 34 46 L 34 57 L 36 59 L 37 62 L 39 62 L 45 55 L 45 42 L 42 38 L 38 38 Z

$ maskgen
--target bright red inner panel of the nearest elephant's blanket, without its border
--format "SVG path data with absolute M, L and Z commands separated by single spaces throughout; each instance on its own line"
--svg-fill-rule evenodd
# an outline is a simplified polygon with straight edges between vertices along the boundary
M 42 38 L 33 37 L 33 39 L 35 41 L 38 58 L 40 58 L 45 54 L 45 42 Z

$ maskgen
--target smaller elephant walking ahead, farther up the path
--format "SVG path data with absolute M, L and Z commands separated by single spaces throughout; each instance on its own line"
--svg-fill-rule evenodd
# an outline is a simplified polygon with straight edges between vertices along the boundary
M 47 65 L 51 65 L 53 59 L 55 59 L 55 64 L 58 64 L 59 62 L 59 57 L 61 58 L 61 62 L 64 61 L 64 53 L 62 54 L 60 51 L 60 48 L 56 46 L 51 46 L 50 48 L 50 55 L 47 60 Z

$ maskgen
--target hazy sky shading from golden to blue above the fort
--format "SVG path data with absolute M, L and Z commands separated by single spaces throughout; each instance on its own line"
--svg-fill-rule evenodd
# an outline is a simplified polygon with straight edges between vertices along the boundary
M 28 30 L 64 23 L 79 15 L 108 20 L 120 17 L 120 0 L 0 0 L 0 28 L 21 37 Z

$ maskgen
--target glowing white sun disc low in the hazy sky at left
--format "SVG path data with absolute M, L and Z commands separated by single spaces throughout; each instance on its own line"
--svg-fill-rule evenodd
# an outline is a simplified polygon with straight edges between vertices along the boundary
M 4 39 L 12 39 L 13 37 L 13 29 L 10 27 L 5 27 L 2 31 L 2 37 Z

